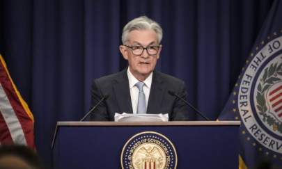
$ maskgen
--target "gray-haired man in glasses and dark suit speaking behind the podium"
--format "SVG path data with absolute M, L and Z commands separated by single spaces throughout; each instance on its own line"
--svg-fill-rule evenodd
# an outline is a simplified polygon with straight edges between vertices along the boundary
M 162 28 L 148 17 L 138 17 L 123 28 L 120 53 L 127 69 L 93 81 L 92 106 L 107 96 L 91 120 L 113 121 L 115 113 L 169 113 L 169 120 L 187 120 L 185 83 L 155 71 L 162 51 Z

